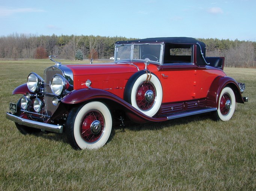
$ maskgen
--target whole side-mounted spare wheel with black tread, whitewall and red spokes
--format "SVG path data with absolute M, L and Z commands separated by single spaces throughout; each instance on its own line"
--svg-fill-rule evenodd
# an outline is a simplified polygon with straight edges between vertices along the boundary
M 124 89 L 124 100 L 147 116 L 154 116 L 163 98 L 162 84 L 154 73 L 139 71 L 131 76 Z

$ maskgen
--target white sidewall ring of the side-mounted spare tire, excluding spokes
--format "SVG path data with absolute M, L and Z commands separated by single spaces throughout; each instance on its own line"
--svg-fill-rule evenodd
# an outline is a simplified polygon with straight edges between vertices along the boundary
M 130 104 L 132 104 L 133 107 L 135 107 L 136 109 L 138 109 L 145 115 L 152 117 L 158 112 L 158 110 L 162 104 L 162 98 L 163 98 L 162 84 L 159 81 L 159 79 L 157 78 L 157 76 L 154 75 L 153 73 L 151 73 L 152 76 L 150 79 L 150 82 L 154 85 L 154 88 L 156 90 L 156 98 L 154 98 L 155 102 L 154 102 L 153 106 L 149 110 L 142 110 L 138 107 L 138 105 L 136 103 L 136 93 L 137 93 L 138 87 L 139 87 L 139 85 L 141 85 L 142 82 L 145 82 L 147 80 L 148 75 L 149 75 L 149 73 L 148 74 L 144 73 L 135 79 L 135 81 L 132 85 L 132 88 L 131 88 Z

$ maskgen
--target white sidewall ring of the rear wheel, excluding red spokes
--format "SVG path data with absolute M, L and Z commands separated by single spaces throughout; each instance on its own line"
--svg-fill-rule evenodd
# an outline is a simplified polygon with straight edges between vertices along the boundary
M 230 101 L 231 101 L 231 109 L 229 110 L 229 113 L 227 115 L 223 115 L 220 112 L 220 100 L 224 94 L 229 94 Z M 230 87 L 225 87 L 223 88 L 222 92 L 220 93 L 219 97 L 219 104 L 218 104 L 218 109 L 217 109 L 217 116 L 219 117 L 220 120 L 223 121 L 228 121 L 229 119 L 232 118 L 233 114 L 235 112 L 235 94 L 234 91 Z

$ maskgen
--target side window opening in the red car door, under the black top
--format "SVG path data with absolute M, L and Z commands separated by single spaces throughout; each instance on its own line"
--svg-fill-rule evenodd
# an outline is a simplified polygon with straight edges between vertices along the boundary
M 191 44 L 166 44 L 164 63 L 192 63 L 193 47 Z

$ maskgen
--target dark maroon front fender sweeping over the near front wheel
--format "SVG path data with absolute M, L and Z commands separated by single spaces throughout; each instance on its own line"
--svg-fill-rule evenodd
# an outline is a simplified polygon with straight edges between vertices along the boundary
M 77 103 L 83 103 L 85 101 L 95 100 L 95 99 L 111 100 L 111 101 L 114 101 L 115 103 L 120 104 L 121 106 L 126 108 L 126 114 L 134 122 L 137 122 L 137 123 L 145 123 L 148 121 L 159 122 L 159 121 L 168 120 L 166 117 L 152 118 L 147 115 L 144 115 L 144 113 L 135 109 L 132 105 L 130 105 L 120 97 L 112 93 L 109 93 L 108 91 L 96 89 L 96 88 L 71 91 L 61 100 L 61 102 L 64 104 L 77 104 Z

